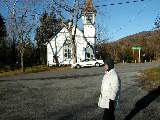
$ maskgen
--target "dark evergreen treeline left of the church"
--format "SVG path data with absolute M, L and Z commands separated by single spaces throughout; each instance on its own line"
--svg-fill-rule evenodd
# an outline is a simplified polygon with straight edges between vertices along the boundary
M 20 68 L 22 57 L 24 68 L 46 64 L 45 44 L 62 27 L 61 20 L 53 13 L 44 12 L 40 17 L 40 24 L 35 29 L 35 34 L 28 33 L 24 43 L 20 43 L 22 35 L 8 30 L 7 25 L 0 14 L 0 68 L 12 70 Z

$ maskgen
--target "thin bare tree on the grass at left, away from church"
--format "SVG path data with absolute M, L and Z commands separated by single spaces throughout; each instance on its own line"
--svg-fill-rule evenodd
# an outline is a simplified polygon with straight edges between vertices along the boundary
M 28 44 L 28 37 L 33 32 L 36 22 L 34 10 L 34 0 L 31 1 L 18 1 L 11 2 L 6 0 L 5 4 L 9 8 L 9 30 L 10 36 L 13 40 L 13 49 L 17 47 L 20 53 L 21 68 L 24 72 L 24 52 Z M 12 7 L 9 5 L 13 4 Z M 17 45 L 16 45 L 17 43 Z

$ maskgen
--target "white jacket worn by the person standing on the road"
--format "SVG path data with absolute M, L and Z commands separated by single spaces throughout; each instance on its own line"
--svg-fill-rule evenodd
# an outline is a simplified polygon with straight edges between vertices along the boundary
M 117 73 L 114 69 L 111 69 L 109 72 L 106 72 L 103 77 L 98 106 L 101 108 L 109 108 L 109 99 L 116 99 L 119 88 L 120 83 Z

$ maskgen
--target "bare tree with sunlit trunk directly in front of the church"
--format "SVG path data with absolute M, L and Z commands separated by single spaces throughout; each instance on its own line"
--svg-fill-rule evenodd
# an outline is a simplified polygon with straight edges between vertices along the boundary
M 77 62 L 76 30 L 77 30 L 77 27 L 78 27 L 78 20 L 81 18 L 81 15 L 82 15 L 82 12 L 81 12 L 82 4 L 80 4 L 79 0 L 75 0 L 74 3 L 73 3 L 73 6 L 69 6 L 64 1 L 63 1 L 63 3 L 62 2 L 58 3 L 55 0 L 53 0 L 53 1 L 56 5 L 61 7 L 59 9 L 64 9 L 65 12 L 68 12 L 71 15 L 71 18 L 69 20 L 69 24 L 66 24 L 66 22 L 63 21 L 63 16 L 62 15 L 60 15 L 60 16 L 61 16 L 61 19 L 62 19 L 61 24 L 63 26 L 65 26 L 69 31 L 69 36 L 70 36 L 71 45 L 72 45 L 72 60 L 73 60 L 73 63 L 76 63 Z

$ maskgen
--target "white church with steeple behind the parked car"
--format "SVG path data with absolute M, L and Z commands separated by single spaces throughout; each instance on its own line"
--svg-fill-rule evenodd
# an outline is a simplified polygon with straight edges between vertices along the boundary
M 93 2 L 92 0 L 86 0 L 82 10 L 83 31 L 76 28 L 75 34 L 77 62 L 95 58 L 95 49 L 93 49 L 96 44 L 95 18 L 96 9 L 93 6 Z M 72 29 L 72 34 L 74 34 L 74 29 L 75 27 Z M 55 54 L 56 58 L 54 57 Z M 63 65 L 73 63 L 71 39 L 69 30 L 66 27 L 63 27 L 47 43 L 48 66 L 56 65 L 55 59 L 58 59 L 59 64 Z

